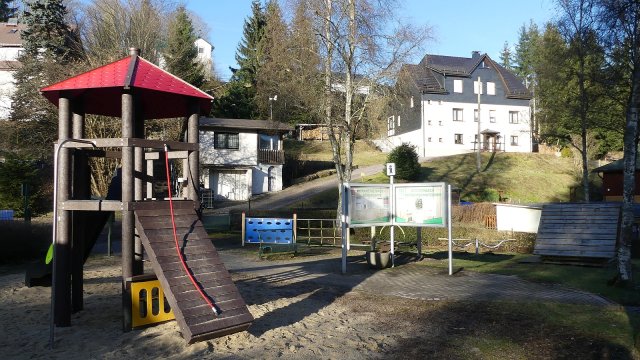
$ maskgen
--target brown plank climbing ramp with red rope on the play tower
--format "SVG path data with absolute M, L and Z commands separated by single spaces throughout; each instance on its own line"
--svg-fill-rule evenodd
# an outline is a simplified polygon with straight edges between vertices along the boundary
M 169 202 L 135 205 L 136 229 L 189 343 L 246 330 L 253 316 L 218 256 L 193 201 L 174 201 L 178 244 L 187 266 L 220 311 L 215 315 L 184 271 L 176 252 Z

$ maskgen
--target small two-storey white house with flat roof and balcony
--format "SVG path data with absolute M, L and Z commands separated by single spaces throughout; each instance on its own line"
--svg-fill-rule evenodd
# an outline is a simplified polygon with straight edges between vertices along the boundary
M 282 136 L 292 130 L 276 121 L 200 118 L 204 188 L 215 200 L 236 201 L 282 190 Z

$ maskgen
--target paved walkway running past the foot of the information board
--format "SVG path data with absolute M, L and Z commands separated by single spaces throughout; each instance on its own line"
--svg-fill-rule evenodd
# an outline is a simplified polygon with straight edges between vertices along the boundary
M 363 257 L 350 257 L 347 274 L 342 275 L 341 260 L 335 256 L 264 261 L 247 258 L 246 254 L 220 250 L 220 256 L 231 272 L 252 281 L 313 282 L 326 286 L 400 296 L 420 300 L 468 301 L 545 301 L 584 305 L 615 305 L 598 295 L 560 285 L 538 284 L 516 276 L 461 271 L 452 276 L 444 270 L 407 263 L 392 269 L 368 269 Z

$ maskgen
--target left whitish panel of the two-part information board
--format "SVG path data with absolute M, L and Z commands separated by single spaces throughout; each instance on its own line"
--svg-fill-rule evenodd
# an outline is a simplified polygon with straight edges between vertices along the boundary
M 391 223 L 391 188 L 389 185 L 350 184 L 349 224 L 386 225 Z

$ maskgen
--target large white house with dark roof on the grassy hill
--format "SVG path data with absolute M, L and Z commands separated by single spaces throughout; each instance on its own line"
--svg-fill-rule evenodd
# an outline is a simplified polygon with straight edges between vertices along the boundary
M 387 119 L 394 147 L 410 143 L 422 157 L 464 154 L 476 151 L 480 133 L 482 151 L 532 151 L 531 94 L 486 54 L 426 55 L 402 66 L 396 90 Z

